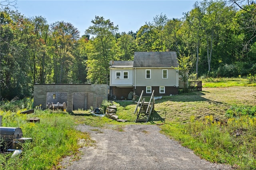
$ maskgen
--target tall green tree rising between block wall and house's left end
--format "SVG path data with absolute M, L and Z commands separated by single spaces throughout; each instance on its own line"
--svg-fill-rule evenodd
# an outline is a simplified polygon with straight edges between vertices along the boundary
M 88 73 L 87 78 L 92 83 L 109 83 L 109 62 L 114 59 L 115 51 L 115 33 L 118 31 L 118 25 L 109 19 L 95 16 L 92 20 L 92 26 L 86 29 L 86 33 L 93 35 L 88 47 Z

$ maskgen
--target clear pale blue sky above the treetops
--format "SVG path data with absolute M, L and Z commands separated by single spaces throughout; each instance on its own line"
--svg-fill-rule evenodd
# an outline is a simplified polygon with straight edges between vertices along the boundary
M 192 10 L 195 0 L 17 0 L 17 10 L 30 18 L 43 16 L 49 24 L 70 22 L 84 35 L 95 16 L 110 19 L 119 32 L 136 32 L 156 15 L 182 18 Z

